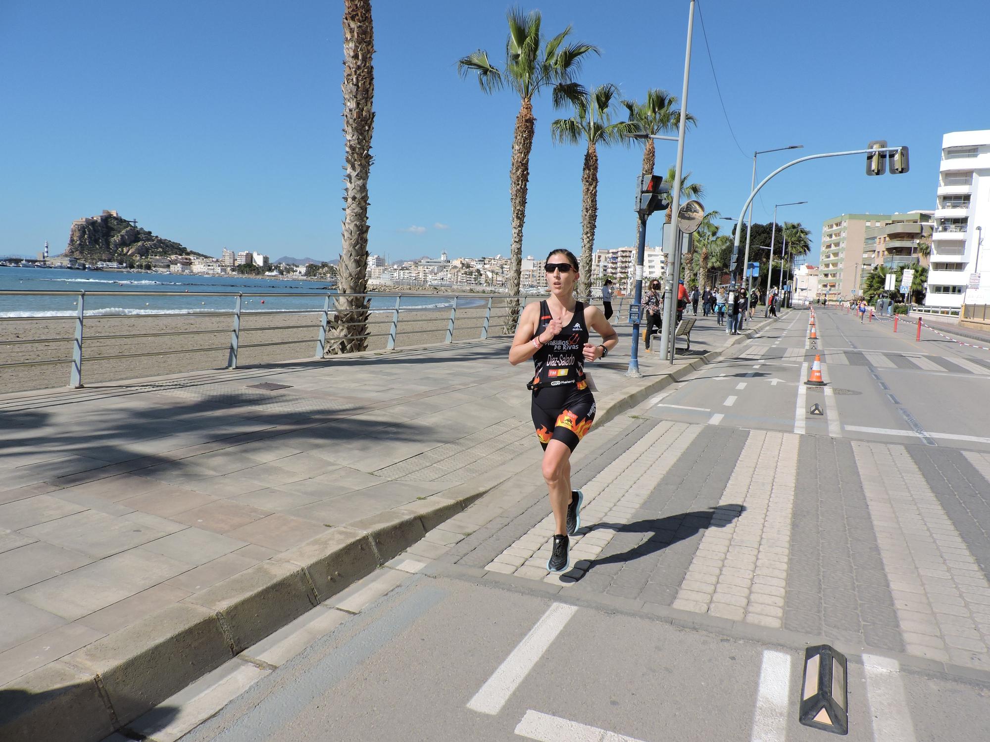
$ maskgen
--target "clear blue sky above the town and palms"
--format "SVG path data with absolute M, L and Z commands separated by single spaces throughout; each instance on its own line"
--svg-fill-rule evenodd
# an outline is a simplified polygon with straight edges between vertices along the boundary
M 737 145 L 696 19 L 685 169 L 706 208 L 737 216 L 753 149 L 911 147 L 911 172 L 867 178 L 860 157 L 798 165 L 757 198 L 812 231 L 850 213 L 934 208 L 940 140 L 990 128 L 990 4 L 700 0 Z M 375 0 L 375 163 L 369 249 L 392 259 L 508 254 L 509 156 L 519 100 L 461 80 L 456 60 L 503 57 L 509 3 Z M 545 0 L 545 31 L 602 50 L 580 76 L 624 97 L 680 95 L 687 0 Z M 610 8 L 605 11 L 604 8 Z M 335 258 L 343 196 L 343 3 L 259 0 L 0 3 L 0 252 L 53 252 L 73 219 L 117 209 L 191 249 Z M 617 12 L 615 8 L 622 8 Z M 536 102 L 524 252 L 580 246 L 583 147 L 553 145 Z M 620 114 L 617 113 L 617 116 Z M 657 171 L 672 164 L 659 142 Z M 761 155 L 766 174 L 787 153 Z M 641 150 L 600 152 L 596 247 L 631 244 Z M 650 241 L 658 240 L 658 220 Z M 727 227 L 731 227 L 726 222 Z M 411 229 L 417 228 L 417 229 Z M 813 253 L 814 255 L 815 253 Z

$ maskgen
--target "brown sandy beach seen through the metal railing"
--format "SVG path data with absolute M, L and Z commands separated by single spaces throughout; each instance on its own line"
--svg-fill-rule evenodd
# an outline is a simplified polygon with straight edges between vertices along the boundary
M 493 303 L 489 337 L 502 332 L 504 300 Z M 485 308 L 458 309 L 453 339 L 479 337 Z M 333 315 L 331 315 L 333 319 Z M 401 313 L 395 346 L 398 349 L 444 342 L 448 309 L 408 310 Z M 320 332 L 320 313 L 253 315 L 241 320 L 238 354 L 240 367 L 312 358 Z M 368 350 L 384 350 L 392 324 L 391 312 L 371 315 Z M 84 385 L 139 379 L 148 376 L 201 371 L 227 366 L 233 316 L 127 316 L 87 318 L 84 324 L 82 378 Z M 0 368 L 0 393 L 51 389 L 68 384 L 75 320 L 4 320 L 0 338 L 34 340 L 65 338 L 57 342 L 0 345 L 0 364 L 58 360 L 59 363 Z M 173 334 L 174 333 L 174 334 Z M 116 337 L 107 337 L 116 335 Z M 144 335 L 144 336 L 143 336 Z M 150 336 L 148 336 L 150 335 Z M 101 337 L 103 336 L 103 337 Z M 292 344 L 262 345 L 298 340 Z M 260 345 L 259 347 L 249 347 Z M 164 353 L 164 351 L 168 351 Z M 179 352 L 176 352 L 179 351 Z M 161 355 L 138 355 L 163 353 Z M 101 356 L 131 355 L 108 358 Z

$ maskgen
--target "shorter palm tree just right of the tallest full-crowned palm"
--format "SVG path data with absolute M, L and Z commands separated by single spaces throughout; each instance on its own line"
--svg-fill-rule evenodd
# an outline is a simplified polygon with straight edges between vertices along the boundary
M 557 119 L 550 125 L 555 142 L 588 142 L 581 170 L 581 283 L 577 291 L 584 302 L 591 298 L 591 256 L 598 220 L 598 146 L 626 145 L 629 143 L 626 135 L 637 131 L 636 125 L 629 122 L 611 123 L 612 102 L 617 95 L 619 88 L 615 85 L 599 85 L 577 96 L 571 118 Z

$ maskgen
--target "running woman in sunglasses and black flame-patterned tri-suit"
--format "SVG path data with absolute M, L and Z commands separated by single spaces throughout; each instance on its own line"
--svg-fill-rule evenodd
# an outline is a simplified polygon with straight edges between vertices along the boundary
M 574 298 L 579 278 L 577 258 L 570 250 L 553 250 L 546 257 L 546 285 L 550 296 L 523 310 L 509 350 L 512 365 L 532 358 L 536 375 L 527 386 L 533 390 L 533 424 L 544 447 L 544 479 L 556 530 L 546 562 L 550 572 L 570 568 L 569 539 L 581 527 L 580 490 L 570 489 L 570 454 L 591 429 L 595 398 L 584 376 L 584 362 L 608 355 L 619 335 L 597 307 Z M 602 336 L 589 342 L 588 329 Z

